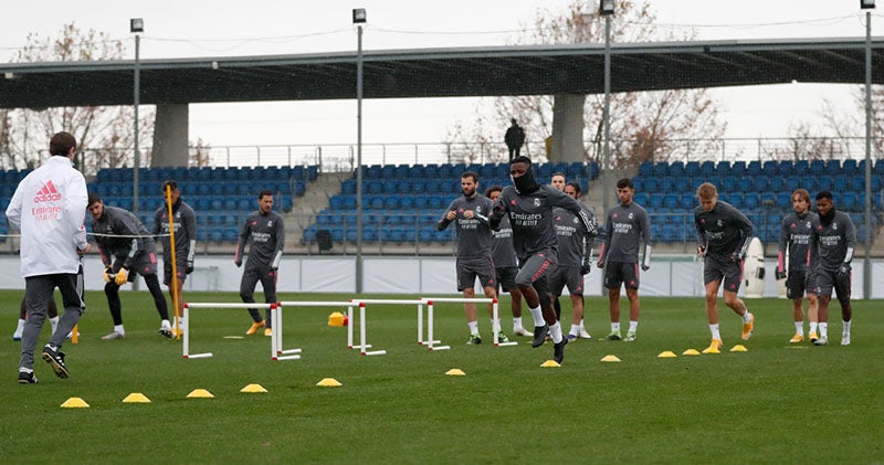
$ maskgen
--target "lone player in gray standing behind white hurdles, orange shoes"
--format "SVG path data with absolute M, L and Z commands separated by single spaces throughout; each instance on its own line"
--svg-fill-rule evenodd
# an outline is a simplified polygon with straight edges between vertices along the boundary
M 240 242 L 236 244 L 236 252 L 233 255 L 233 263 L 236 267 L 242 266 L 246 243 L 249 244 L 249 260 L 242 272 L 240 298 L 246 304 L 253 304 L 255 286 L 260 281 L 264 288 L 264 302 L 273 304 L 276 302 L 276 275 L 280 262 L 283 260 L 285 229 L 283 228 L 283 218 L 273 211 L 273 192 L 266 189 L 257 194 L 257 211 L 250 213 L 240 229 Z M 267 309 L 266 320 L 261 318 L 261 311 L 255 308 L 250 308 L 249 314 L 252 316 L 253 323 L 245 331 L 246 336 L 254 335 L 261 328 L 264 328 L 264 336 L 273 335 L 270 309 Z

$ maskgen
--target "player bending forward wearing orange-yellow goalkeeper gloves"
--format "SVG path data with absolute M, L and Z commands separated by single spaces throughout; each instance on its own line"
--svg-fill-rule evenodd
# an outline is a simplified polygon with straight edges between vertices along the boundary
M 157 277 L 157 247 L 147 228 L 131 212 L 116 207 L 106 207 L 102 198 L 90 194 L 88 212 L 92 214 L 92 232 L 102 253 L 104 263 L 104 293 L 107 306 L 114 319 L 114 330 L 102 339 L 123 339 L 126 329 L 123 327 L 123 303 L 119 300 L 119 288 L 131 283 L 138 275 L 144 276 L 154 305 L 160 317 L 159 334 L 171 338 L 169 308 Z

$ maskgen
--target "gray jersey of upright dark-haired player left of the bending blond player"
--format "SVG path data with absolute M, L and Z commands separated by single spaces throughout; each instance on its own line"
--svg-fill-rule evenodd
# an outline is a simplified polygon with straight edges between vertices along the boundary
M 599 260 L 612 263 L 639 263 L 642 240 L 651 243 L 651 221 L 648 211 L 635 202 L 619 204 L 608 212 L 608 236 Z

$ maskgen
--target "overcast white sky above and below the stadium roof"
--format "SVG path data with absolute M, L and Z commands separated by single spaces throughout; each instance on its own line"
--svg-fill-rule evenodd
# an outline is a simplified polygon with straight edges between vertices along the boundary
M 366 50 L 502 45 L 533 23 L 538 10 L 562 11 L 562 0 L 169 1 L 43 0 L 4 4 L 0 60 L 9 61 L 28 33 L 57 35 L 73 21 L 81 29 L 125 39 L 130 18 L 144 18 L 141 56 L 297 54 L 356 46 L 352 8 L 366 8 Z M 884 2 L 882 2 L 884 3 Z M 701 40 L 863 36 L 855 0 L 653 0 L 657 23 L 694 28 Z M 882 4 L 884 8 L 884 4 Z M 873 10 L 876 11 L 876 10 Z M 884 17 L 873 14 L 873 34 Z M 615 76 L 613 78 L 617 78 Z M 790 121 L 812 120 L 823 98 L 851 103 L 855 86 L 787 84 L 714 89 L 727 137 L 786 136 Z M 474 98 L 367 101 L 366 142 L 438 142 L 457 119 L 471 120 Z M 503 129 L 502 129 L 503 130 Z M 352 144 L 356 103 L 252 103 L 191 105 L 190 138 L 213 146 Z

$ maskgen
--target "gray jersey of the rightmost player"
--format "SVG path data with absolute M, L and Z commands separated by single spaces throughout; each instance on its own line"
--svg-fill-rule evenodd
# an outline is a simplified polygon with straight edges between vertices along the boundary
M 836 272 L 841 264 L 853 258 L 856 230 L 850 215 L 835 211 L 835 218 L 823 224 L 819 215 L 810 222 L 810 260 L 814 271 Z M 848 256 L 848 254 L 851 256 Z

